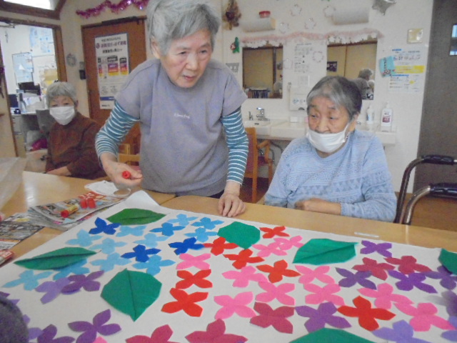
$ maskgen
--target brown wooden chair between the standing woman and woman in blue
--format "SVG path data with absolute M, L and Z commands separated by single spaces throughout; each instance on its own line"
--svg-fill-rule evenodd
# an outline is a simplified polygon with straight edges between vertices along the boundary
M 257 200 L 257 177 L 258 168 L 260 166 L 268 166 L 268 185 L 273 179 L 273 160 L 270 159 L 270 141 L 268 139 L 258 143 L 255 127 L 246 127 L 246 134 L 248 134 L 249 151 L 248 161 L 246 164 L 246 172 L 244 177 L 252 179 L 252 200 L 255 203 Z M 258 149 L 265 149 L 263 156 L 258 155 Z

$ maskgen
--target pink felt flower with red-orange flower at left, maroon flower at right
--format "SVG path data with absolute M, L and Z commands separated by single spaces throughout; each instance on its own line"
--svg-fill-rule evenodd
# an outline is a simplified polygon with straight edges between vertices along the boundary
M 244 292 L 237 294 L 234 298 L 229 295 L 218 295 L 214 297 L 214 302 L 221 305 L 221 309 L 214 316 L 216 319 L 227 319 L 233 316 L 234 313 L 243 318 L 252 318 L 256 315 L 253 309 L 248 307 L 248 304 L 254 299 L 252 292 Z

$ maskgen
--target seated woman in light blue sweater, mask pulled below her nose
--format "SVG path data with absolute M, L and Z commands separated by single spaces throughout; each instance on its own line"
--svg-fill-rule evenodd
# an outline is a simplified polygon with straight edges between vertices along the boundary
M 392 222 L 396 196 L 381 141 L 356 130 L 361 95 L 326 76 L 311 89 L 308 133 L 284 150 L 265 204 Z

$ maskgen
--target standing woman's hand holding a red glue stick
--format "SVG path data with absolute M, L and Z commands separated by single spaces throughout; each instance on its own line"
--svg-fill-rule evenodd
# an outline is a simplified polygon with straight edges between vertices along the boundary
M 104 152 L 100 155 L 100 161 L 106 175 L 116 184 L 116 187 L 133 188 L 141 184 L 143 180 L 141 171 L 132 168 L 128 164 L 118 162 L 114 154 Z M 130 178 L 125 178 L 123 176 L 124 172 L 129 172 Z

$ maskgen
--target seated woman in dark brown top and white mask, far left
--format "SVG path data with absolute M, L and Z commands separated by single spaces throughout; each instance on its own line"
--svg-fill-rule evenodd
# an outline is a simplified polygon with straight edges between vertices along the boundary
M 106 176 L 95 151 L 96 121 L 76 111 L 76 89 L 68 82 L 55 82 L 46 90 L 51 126 L 46 156 L 46 174 L 96 179 Z

